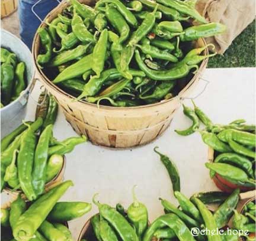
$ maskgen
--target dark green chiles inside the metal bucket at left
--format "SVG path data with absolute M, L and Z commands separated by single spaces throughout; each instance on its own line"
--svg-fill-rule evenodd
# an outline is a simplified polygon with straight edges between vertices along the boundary
M 1 47 L 1 108 L 17 99 L 26 87 L 25 63 Z

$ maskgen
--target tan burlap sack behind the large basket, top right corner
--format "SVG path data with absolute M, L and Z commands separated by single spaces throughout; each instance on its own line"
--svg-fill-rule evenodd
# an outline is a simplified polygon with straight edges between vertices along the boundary
M 209 22 L 226 25 L 225 34 L 206 38 L 207 43 L 215 44 L 219 54 L 223 54 L 255 18 L 255 0 L 198 0 L 196 8 Z

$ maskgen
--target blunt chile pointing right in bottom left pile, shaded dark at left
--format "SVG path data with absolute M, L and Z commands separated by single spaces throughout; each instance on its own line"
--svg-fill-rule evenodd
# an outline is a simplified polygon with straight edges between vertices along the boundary
M 56 203 L 52 211 L 50 211 L 47 219 L 52 222 L 64 223 L 82 217 L 85 213 L 88 213 L 91 208 L 92 206 L 90 203 L 81 201 L 59 202 Z

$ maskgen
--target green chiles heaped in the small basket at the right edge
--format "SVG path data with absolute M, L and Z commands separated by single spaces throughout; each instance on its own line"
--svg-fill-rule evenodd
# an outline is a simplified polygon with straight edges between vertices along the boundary
M 226 192 L 234 188 L 242 191 L 255 189 L 255 125 L 248 125 L 244 119 L 235 120 L 228 125 L 213 123 L 210 118 L 193 102 L 194 109 L 184 107 L 184 114 L 191 119 L 192 125 L 179 135 L 199 132 L 203 142 L 214 152 L 212 163 L 206 163 L 217 187 Z M 200 122 L 205 126 L 201 130 Z

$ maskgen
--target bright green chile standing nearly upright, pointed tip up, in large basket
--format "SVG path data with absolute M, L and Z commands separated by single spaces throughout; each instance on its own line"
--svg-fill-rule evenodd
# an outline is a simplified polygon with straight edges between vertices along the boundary
M 101 32 L 100 38 L 94 46 L 92 53 L 92 70 L 100 77 L 104 69 L 105 57 L 107 52 L 108 31 L 107 29 Z

